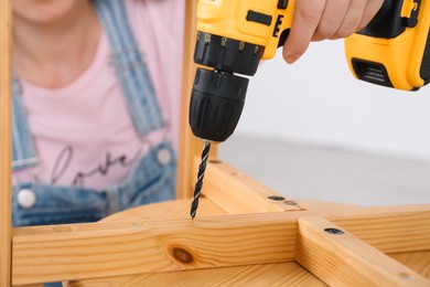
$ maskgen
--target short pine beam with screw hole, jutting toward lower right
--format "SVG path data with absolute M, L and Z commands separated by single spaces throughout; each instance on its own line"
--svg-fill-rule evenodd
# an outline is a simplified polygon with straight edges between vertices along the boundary
M 429 286 L 430 281 L 323 217 L 299 220 L 295 261 L 330 286 Z

